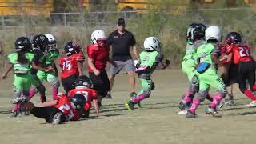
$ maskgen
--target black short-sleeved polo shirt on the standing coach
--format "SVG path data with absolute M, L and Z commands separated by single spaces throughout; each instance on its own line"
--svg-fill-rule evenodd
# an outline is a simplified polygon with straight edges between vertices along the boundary
M 107 38 L 109 45 L 112 45 L 112 58 L 114 61 L 126 61 L 131 59 L 130 46 L 136 44 L 134 35 L 127 31 L 124 34 L 119 34 L 118 30 L 115 30 Z

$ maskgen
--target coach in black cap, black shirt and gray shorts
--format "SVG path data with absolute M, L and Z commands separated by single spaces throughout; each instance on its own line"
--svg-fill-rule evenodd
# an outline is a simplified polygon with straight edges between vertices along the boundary
M 134 35 L 125 29 L 126 23 L 123 18 L 118 19 L 118 30 L 115 30 L 107 38 L 107 42 L 112 45 L 112 59 L 118 65 L 116 67 L 110 67 L 110 90 L 112 90 L 114 84 L 114 77 L 119 73 L 122 68 L 129 75 L 130 83 L 130 96 L 136 96 L 135 93 L 135 78 L 134 78 L 134 61 L 130 55 L 130 47 L 134 52 L 135 58 L 138 59 L 137 48 L 135 46 L 136 41 Z M 110 92 L 106 98 L 111 98 Z

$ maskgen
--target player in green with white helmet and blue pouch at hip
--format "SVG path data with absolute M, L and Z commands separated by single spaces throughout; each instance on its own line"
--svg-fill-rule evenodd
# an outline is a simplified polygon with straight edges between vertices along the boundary
M 197 66 L 197 77 L 199 80 L 199 93 L 198 97 L 193 99 L 193 103 L 186 114 L 186 118 L 196 118 L 197 115 L 195 111 L 199 104 L 206 98 L 210 86 L 213 86 L 214 89 L 217 90 L 217 94 L 214 95 L 214 100 L 210 103 L 206 113 L 212 114 L 214 117 L 222 117 L 216 110 L 216 106 L 222 101 L 222 98 L 225 98 L 227 93 L 222 78 L 219 78 L 217 74 L 217 65 L 223 66 L 222 62 L 218 60 L 220 56 L 220 46 L 218 42 L 221 41 L 221 35 L 218 26 L 209 26 L 206 29 L 207 43 L 198 47 L 197 54 L 199 64 Z

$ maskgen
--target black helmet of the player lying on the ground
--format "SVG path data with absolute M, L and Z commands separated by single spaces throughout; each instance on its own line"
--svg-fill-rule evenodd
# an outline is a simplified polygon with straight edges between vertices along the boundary
M 74 94 L 74 97 L 70 99 L 70 102 L 74 106 L 74 110 L 84 110 L 86 105 L 86 97 L 83 94 Z

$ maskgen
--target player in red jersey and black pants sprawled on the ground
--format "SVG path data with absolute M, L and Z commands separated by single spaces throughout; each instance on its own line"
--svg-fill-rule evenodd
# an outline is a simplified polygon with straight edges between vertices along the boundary
M 42 103 L 43 107 L 36 107 L 32 102 L 26 102 L 30 113 L 37 118 L 44 118 L 52 124 L 62 124 L 68 121 L 77 121 L 82 117 L 86 98 L 82 94 L 74 94 L 68 98 L 65 94 L 58 94 L 58 99 Z

